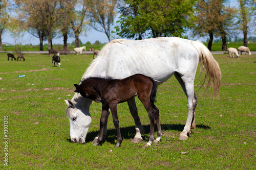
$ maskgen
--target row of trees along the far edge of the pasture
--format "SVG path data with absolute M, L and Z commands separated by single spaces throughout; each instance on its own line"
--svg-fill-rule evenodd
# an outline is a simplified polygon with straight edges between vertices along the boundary
M 111 34 L 119 37 L 145 39 L 160 36 L 209 36 L 208 48 L 215 37 L 221 37 L 222 50 L 226 50 L 227 35 L 247 34 L 255 22 L 256 1 L 237 0 L 239 7 L 230 7 L 228 0 L 2 0 L 0 1 L 0 50 L 2 34 L 8 30 L 13 37 L 27 31 L 42 42 L 63 37 L 67 39 L 93 28 L 103 32 L 111 40 Z M 114 18 L 120 14 L 116 27 Z M 251 27 L 252 28 L 252 27 Z

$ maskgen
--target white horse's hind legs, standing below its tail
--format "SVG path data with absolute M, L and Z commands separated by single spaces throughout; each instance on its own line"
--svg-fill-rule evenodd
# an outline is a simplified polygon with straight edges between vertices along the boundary
M 183 91 L 185 92 L 188 100 L 187 109 L 187 121 L 184 127 L 184 130 L 181 132 L 179 139 L 186 140 L 187 134 L 191 133 L 191 129 L 196 127 L 195 115 L 197 107 L 197 96 L 194 89 L 194 79 L 186 78 L 185 76 L 181 77 L 177 72 L 175 72 L 175 77 L 179 81 Z

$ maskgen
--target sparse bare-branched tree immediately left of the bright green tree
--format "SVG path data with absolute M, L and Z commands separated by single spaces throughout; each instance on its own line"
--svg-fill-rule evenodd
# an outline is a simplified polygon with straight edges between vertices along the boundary
M 91 27 L 96 31 L 105 33 L 109 41 L 114 18 L 117 15 L 115 7 L 117 0 L 87 0 L 87 6 L 91 16 Z

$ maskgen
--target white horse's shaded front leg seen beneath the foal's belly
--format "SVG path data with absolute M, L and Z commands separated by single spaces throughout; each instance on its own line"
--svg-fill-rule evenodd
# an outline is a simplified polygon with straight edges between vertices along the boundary
M 130 99 L 129 101 L 127 101 L 128 105 L 129 105 L 129 109 L 130 109 L 130 112 L 134 118 L 134 122 L 135 122 L 135 130 L 136 130 L 136 135 L 134 136 L 132 142 L 133 143 L 137 143 L 137 142 L 140 142 L 142 140 L 142 137 L 141 137 L 141 134 L 144 134 L 145 133 L 145 130 L 143 128 L 143 126 L 141 125 L 141 122 L 140 122 L 140 118 L 139 118 L 139 115 L 138 115 L 138 110 L 137 110 L 137 107 L 136 107 L 136 102 L 135 102 L 135 98 L 132 98 Z

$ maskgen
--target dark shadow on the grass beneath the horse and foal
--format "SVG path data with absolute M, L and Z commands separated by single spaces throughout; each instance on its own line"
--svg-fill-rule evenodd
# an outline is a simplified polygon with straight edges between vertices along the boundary
M 184 129 L 184 126 L 185 125 L 181 125 L 181 124 L 162 124 L 161 129 L 162 130 L 175 130 L 175 131 L 182 132 L 182 130 Z M 145 129 L 145 134 L 142 135 L 142 138 L 143 138 L 143 141 L 147 142 L 150 137 L 150 125 L 144 125 L 143 127 Z M 197 125 L 196 129 L 197 128 L 205 129 L 205 130 L 210 129 L 209 126 L 205 126 L 202 124 Z M 157 128 L 155 126 L 155 131 L 156 131 L 156 129 Z M 121 135 L 122 135 L 123 139 L 132 140 L 136 134 L 135 126 L 120 128 L 120 131 L 121 131 Z M 98 134 L 99 134 L 99 131 L 89 132 L 86 137 L 86 143 L 92 142 Z M 112 144 L 116 144 L 116 141 L 115 141 L 116 139 L 117 139 L 116 129 L 109 129 L 108 136 L 106 137 L 106 139 L 104 141 L 108 141 Z M 71 142 L 70 139 L 67 139 L 67 141 Z M 102 143 L 104 143 L 104 141 Z M 100 145 L 102 143 L 100 143 Z

